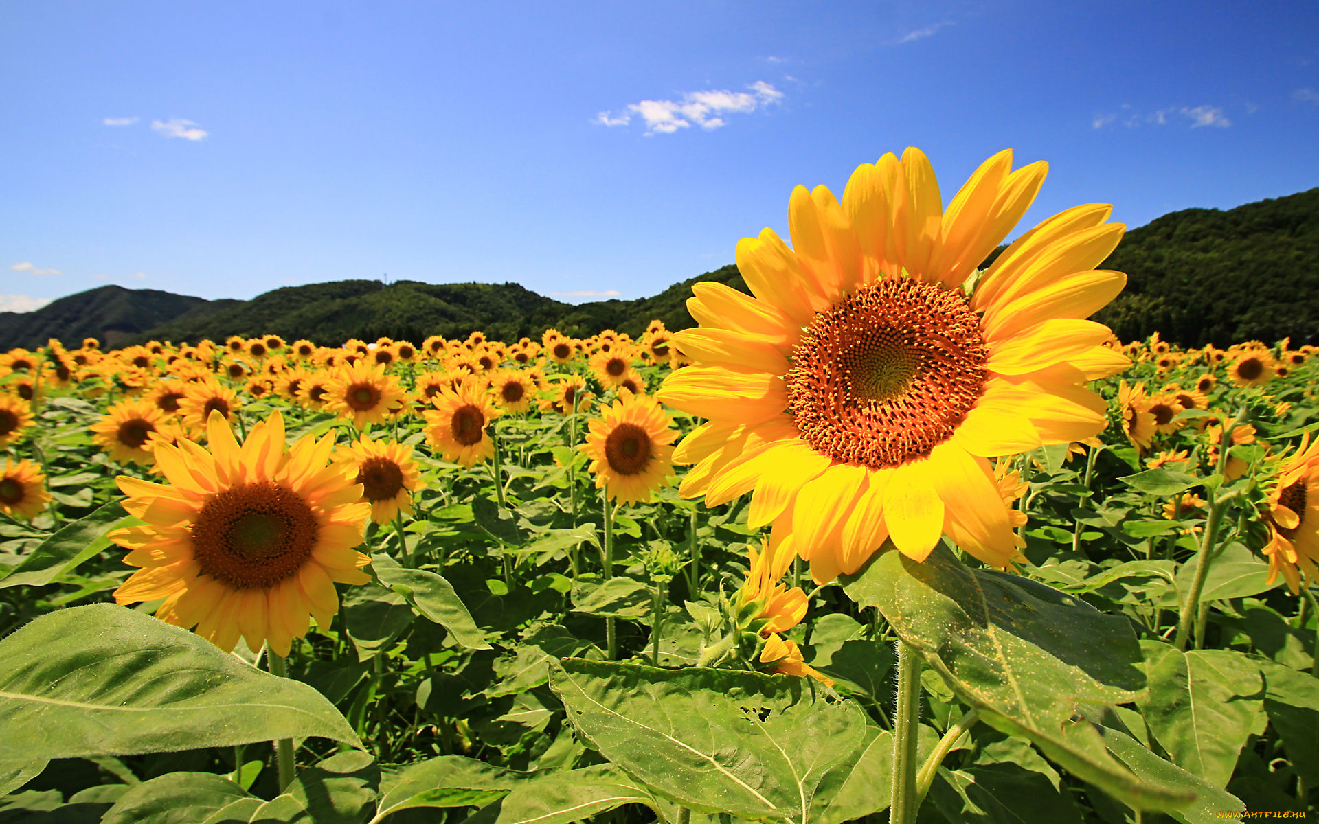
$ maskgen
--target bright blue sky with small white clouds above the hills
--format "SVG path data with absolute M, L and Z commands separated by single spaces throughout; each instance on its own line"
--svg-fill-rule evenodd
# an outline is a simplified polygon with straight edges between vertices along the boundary
M 1319 185 L 1308 1 L 15 0 L 0 80 L 0 310 L 383 277 L 642 297 L 909 145 L 946 202 L 1000 149 L 1049 161 L 1017 232 Z

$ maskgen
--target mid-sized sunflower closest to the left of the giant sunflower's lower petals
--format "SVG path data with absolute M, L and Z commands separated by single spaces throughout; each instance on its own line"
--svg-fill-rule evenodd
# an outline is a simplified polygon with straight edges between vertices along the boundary
M 624 504 L 649 501 L 673 473 L 673 428 L 669 413 L 648 396 L 625 394 L 600 410 L 578 447 L 591 459 L 596 489 Z M 780 576 L 781 577 L 781 576 Z

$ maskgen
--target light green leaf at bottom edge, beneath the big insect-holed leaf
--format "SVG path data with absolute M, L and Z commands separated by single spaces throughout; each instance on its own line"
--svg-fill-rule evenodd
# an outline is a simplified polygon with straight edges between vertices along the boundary
M 529 774 L 512 792 L 463 819 L 463 824 L 570 824 L 624 804 L 653 806 L 654 799 L 611 763 L 547 770 Z

